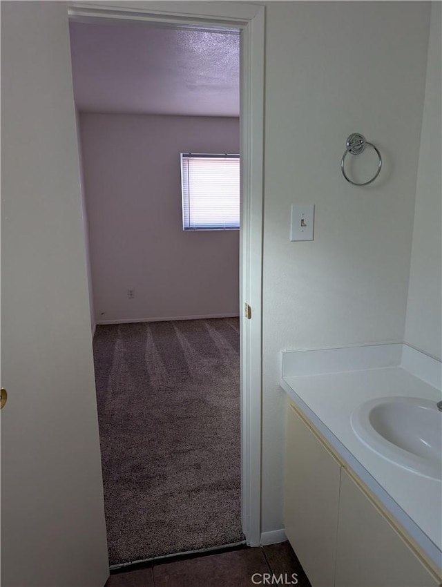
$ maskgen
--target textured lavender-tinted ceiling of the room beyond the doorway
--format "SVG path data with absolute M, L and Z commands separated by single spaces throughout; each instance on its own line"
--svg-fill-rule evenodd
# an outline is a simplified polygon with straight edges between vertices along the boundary
M 239 116 L 235 33 L 70 23 L 80 111 Z

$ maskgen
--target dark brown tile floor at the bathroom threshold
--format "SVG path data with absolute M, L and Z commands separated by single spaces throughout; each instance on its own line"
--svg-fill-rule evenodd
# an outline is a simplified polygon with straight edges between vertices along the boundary
M 272 575 L 275 575 L 273 581 Z M 153 561 L 134 570 L 113 572 L 106 587 L 252 587 L 266 584 L 311 587 L 289 542 Z

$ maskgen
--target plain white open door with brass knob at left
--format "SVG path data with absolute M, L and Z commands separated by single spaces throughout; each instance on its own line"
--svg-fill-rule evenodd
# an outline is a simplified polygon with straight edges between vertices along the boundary
M 66 3 L 1 3 L 2 587 L 108 577 L 70 68 Z

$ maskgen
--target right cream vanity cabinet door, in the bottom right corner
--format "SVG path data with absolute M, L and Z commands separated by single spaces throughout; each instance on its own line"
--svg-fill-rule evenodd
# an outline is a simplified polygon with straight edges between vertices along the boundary
M 439 581 L 343 469 L 335 587 L 434 587 Z

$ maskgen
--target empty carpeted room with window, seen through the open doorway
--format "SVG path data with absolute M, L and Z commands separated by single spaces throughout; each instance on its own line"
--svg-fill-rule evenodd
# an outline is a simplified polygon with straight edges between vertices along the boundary
M 70 43 L 111 567 L 242 543 L 238 31 Z

